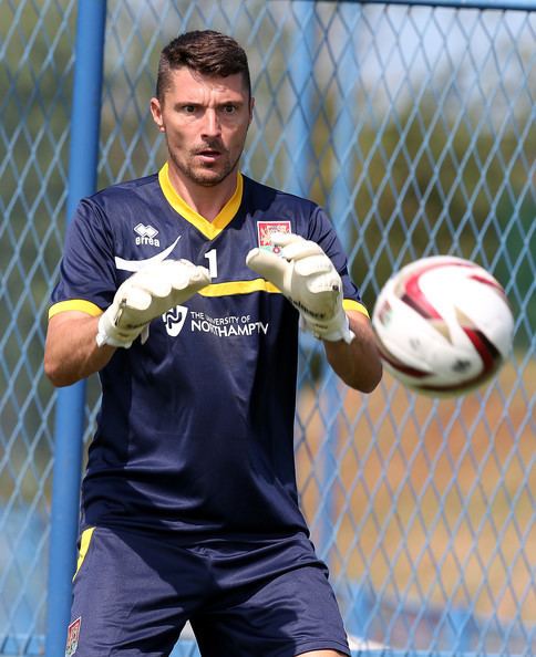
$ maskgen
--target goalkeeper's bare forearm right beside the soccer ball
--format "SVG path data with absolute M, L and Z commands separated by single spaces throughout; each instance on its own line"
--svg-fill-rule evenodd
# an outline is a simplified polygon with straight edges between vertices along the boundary
M 370 321 L 361 313 L 348 313 L 350 328 L 355 335 L 343 341 L 324 341 L 326 355 L 333 372 L 350 387 L 372 393 L 382 377 L 382 364 Z

